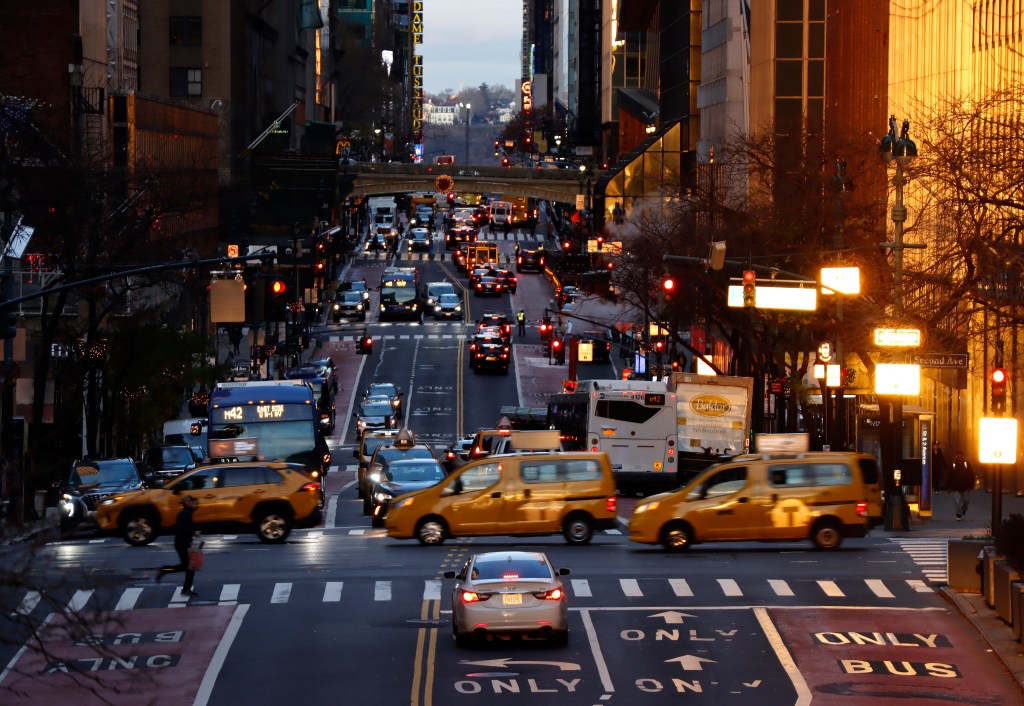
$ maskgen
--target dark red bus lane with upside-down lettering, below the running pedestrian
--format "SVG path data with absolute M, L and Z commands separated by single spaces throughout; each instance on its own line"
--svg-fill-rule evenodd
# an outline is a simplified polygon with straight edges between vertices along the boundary
M 13 698 L 4 703 L 194 703 L 244 616 L 245 607 L 234 606 L 54 614 L 0 675 L 0 689 Z

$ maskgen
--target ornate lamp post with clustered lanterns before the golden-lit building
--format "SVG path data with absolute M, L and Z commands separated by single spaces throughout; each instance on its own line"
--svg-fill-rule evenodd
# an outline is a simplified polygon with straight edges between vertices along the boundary
M 895 201 L 893 202 L 890 217 L 893 221 L 894 239 L 891 243 L 883 243 L 882 247 L 893 251 L 893 310 L 896 322 L 900 323 L 903 318 L 903 250 L 906 248 L 924 248 L 923 244 L 906 245 L 903 243 L 903 223 L 906 222 L 906 206 L 903 205 L 903 186 L 907 183 L 907 178 L 903 172 L 905 167 L 910 166 L 918 157 L 918 146 L 910 139 L 910 121 L 904 119 L 899 137 L 896 136 L 896 116 L 889 117 L 889 133 L 882 139 L 879 146 L 879 156 L 888 165 L 896 164 L 896 174 L 893 176 L 893 186 L 896 188 Z M 889 440 L 890 461 L 892 468 L 886 473 L 886 516 L 885 527 L 887 530 L 902 530 L 904 520 L 905 501 L 902 490 L 899 488 L 897 473 L 902 465 L 903 457 L 903 398 L 897 393 L 893 398 L 890 406 L 890 419 L 893 425 L 893 432 Z

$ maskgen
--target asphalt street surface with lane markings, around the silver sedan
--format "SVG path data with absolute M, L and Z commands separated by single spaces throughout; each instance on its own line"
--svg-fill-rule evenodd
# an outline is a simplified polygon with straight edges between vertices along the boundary
M 383 265 L 356 260 L 351 274 L 373 282 Z M 429 281 L 451 263 L 421 266 Z M 521 282 L 514 301 L 470 296 L 472 318 L 543 309 L 543 281 Z M 388 539 L 370 528 L 352 485 L 350 401 L 371 381 L 394 381 L 406 390 L 410 427 L 441 444 L 519 404 L 529 368 L 474 375 L 460 355 L 466 324 L 369 326 L 378 339 L 369 357 L 355 356 L 351 327 L 321 334 L 343 388 L 324 527 L 282 545 L 247 534 L 207 538 L 193 598 L 170 579 L 154 580 L 172 560 L 167 537 L 131 547 L 78 536 L 23 555 L 46 590 L 0 589 L 0 703 L 1021 703 L 1016 682 L 936 592 L 940 582 L 880 533 L 827 553 L 743 543 L 685 555 L 632 545 L 622 531 L 582 547 L 560 537 L 432 548 Z M 538 344 L 534 329 L 516 342 L 517 359 Z M 623 502 L 621 514 L 630 506 Z M 456 647 L 443 572 L 503 547 L 544 550 L 571 571 L 567 647 Z

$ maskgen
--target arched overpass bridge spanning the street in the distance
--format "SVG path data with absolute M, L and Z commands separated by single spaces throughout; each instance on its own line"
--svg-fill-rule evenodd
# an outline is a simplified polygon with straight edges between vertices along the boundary
M 528 167 L 473 167 L 459 165 L 403 164 L 398 162 L 366 162 L 339 168 L 341 173 L 354 176 L 351 196 L 365 197 L 377 194 L 407 192 L 438 192 L 444 179 L 452 178 L 450 190 L 466 194 L 504 194 L 532 197 L 546 201 L 574 204 L 578 194 L 586 194 L 588 186 L 603 171 L 583 172 L 574 169 L 536 169 Z

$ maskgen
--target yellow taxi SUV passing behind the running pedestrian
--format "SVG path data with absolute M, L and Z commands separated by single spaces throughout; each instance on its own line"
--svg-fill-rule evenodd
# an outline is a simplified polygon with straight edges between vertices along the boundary
M 173 534 L 181 498 L 199 500 L 199 530 L 244 527 L 263 542 L 284 542 L 295 527 L 321 522 L 321 479 L 282 462 L 215 463 L 200 466 L 161 488 L 120 493 L 96 505 L 96 524 L 134 546 Z

